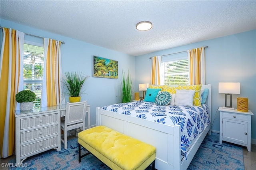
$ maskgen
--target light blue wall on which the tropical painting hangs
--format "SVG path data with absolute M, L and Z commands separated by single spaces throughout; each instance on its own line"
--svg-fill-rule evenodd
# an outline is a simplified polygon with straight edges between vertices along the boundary
M 96 125 L 96 107 L 103 107 L 105 105 L 120 103 L 122 101 L 120 98 L 122 71 L 127 72 L 129 69 L 135 84 L 134 56 L 28 26 L 23 26 L 7 20 L 0 20 L 0 23 L 2 27 L 13 28 L 27 34 L 65 42 L 64 45 L 61 45 L 62 72 L 81 71 L 90 76 L 85 84 L 85 93 L 87 94 L 82 94 L 81 100 L 87 100 L 88 104 L 91 105 L 91 125 Z M 34 38 L 26 35 L 24 39 L 39 43 L 43 42 L 41 38 Z M 92 77 L 93 55 L 118 61 L 118 79 Z M 69 101 L 68 96 L 65 96 L 65 99 L 66 102 Z

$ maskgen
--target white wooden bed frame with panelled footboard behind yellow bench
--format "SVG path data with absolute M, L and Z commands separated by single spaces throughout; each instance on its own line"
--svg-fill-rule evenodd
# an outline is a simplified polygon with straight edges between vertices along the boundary
M 211 119 L 211 85 L 203 85 L 209 89 L 206 104 L 209 107 Z M 187 160 L 181 156 L 180 125 L 164 125 L 145 119 L 106 111 L 97 107 L 97 126 L 104 125 L 123 134 L 151 144 L 156 147 L 156 169 L 186 170 L 193 159 L 206 134 L 211 133 L 211 124 L 194 140 L 187 152 Z

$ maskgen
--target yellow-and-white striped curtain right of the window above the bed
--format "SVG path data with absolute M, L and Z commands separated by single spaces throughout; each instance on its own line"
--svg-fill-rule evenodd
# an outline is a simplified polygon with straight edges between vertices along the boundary
M 188 50 L 190 85 L 205 85 L 204 47 Z

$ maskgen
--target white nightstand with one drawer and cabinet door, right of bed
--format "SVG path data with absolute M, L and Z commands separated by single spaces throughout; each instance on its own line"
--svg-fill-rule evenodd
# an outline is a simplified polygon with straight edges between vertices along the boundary
M 251 111 L 241 112 L 236 109 L 223 109 L 220 111 L 220 143 L 231 142 L 246 146 L 251 152 Z

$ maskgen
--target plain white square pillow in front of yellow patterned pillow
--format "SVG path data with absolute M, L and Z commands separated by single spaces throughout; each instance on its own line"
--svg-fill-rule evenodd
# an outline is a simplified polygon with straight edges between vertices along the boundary
M 193 106 L 194 90 L 176 90 L 174 105 Z

